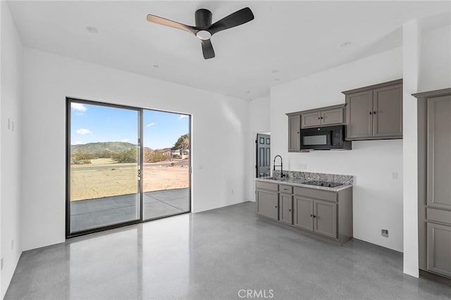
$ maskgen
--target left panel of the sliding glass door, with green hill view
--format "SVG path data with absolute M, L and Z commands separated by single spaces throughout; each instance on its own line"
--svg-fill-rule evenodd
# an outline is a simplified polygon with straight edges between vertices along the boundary
M 68 105 L 67 234 L 140 220 L 140 111 Z

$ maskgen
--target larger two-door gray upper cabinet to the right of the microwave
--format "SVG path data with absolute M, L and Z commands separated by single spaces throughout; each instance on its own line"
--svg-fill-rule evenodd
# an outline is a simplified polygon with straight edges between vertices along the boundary
M 342 93 L 346 139 L 402 139 L 402 79 Z

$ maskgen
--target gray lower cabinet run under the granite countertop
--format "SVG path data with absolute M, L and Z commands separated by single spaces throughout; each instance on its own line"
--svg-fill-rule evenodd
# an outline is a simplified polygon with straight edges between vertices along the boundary
M 257 181 L 257 213 L 262 217 L 340 244 L 352 238 L 352 187 L 332 192 L 262 183 Z

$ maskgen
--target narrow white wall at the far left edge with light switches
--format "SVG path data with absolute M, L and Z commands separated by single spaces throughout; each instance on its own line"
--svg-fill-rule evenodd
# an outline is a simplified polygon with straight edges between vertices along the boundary
M 1 297 L 22 253 L 20 244 L 20 135 L 23 48 L 8 4 L 1 1 Z M 10 127 L 8 129 L 8 119 Z M 12 127 L 14 123 L 14 128 Z

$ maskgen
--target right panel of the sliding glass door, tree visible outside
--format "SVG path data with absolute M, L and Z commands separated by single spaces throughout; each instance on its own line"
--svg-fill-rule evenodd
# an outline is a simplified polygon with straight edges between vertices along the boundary
M 190 116 L 143 112 L 144 220 L 190 211 Z

